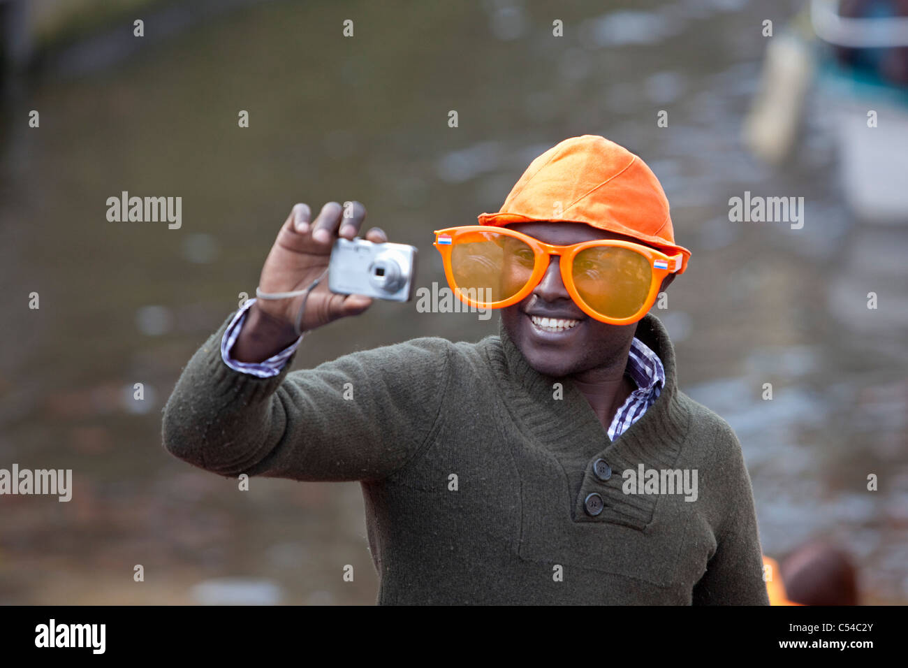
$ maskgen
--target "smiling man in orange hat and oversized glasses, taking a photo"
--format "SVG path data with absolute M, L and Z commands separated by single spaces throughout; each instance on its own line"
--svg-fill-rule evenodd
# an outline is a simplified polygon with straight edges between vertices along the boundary
M 300 294 L 364 216 L 293 207 L 259 286 L 279 298 L 192 357 L 165 408 L 171 453 L 223 475 L 360 481 L 378 603 L 768 603 L 740 445 L 678 390 L 646 313 L 690 253 L 639 157 L 568 139 L 498 214 L 436 233 L 451 287 L 503 309 L 498 336 L 288 374 L 301 306 L 306 332 L 370 305 Z

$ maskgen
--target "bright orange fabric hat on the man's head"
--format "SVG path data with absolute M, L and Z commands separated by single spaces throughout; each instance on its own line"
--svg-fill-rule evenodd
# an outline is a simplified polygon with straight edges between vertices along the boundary
M 565 139 L 527 167 L 497 214 L 480 225 L 532 222 L 586 223 L 636 237 L 669 255 L 690 251 L 675 244 L 668 199 L 639 156 L 598 135 Z

